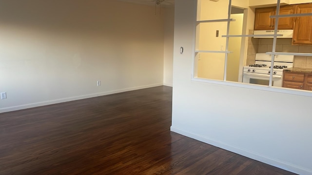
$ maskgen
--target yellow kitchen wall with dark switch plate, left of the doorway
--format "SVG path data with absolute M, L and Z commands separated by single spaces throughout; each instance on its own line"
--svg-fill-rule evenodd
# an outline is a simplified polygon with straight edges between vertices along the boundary
M 228 18 L 227 8 L 222 8 L 228 4 L 228 1 L 209 1 L 198 0 L 197 20 L 213 19 L 212 14 L 216 18 Z M 211 11 L 205 9 L 206 6 L 214 6 Z M 196 50 L 203 51 L 221 51 L 225 50 L 226 38 L 221 37 L 226 35 L 227 22 L 209 22 L 197 25 L 197 45 Z M 219 31 L 219 36 L 216 37 L 216 31 Z M 223 80 L 224 77 L 224 53 L 197 53 L 197 76 L 201 78 L 209 78 Z

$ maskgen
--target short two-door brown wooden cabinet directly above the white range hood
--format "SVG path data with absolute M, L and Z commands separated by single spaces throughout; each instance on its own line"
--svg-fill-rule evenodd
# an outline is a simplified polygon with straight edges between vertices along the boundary
M 295 7 L 293 5 L 281 6 L 279 15 L 293 14 Z M 273 30 L 275 25 L 275 18 L 270 16 L 276 15 L 276 7 L 266 7 L 255 9 L 254 30 Z M 294 18 L 279 18 L 279 30 L 293 29 Z

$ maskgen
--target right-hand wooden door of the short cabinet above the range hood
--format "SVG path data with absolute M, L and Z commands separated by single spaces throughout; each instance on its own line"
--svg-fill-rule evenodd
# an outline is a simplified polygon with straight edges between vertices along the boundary
M 286 5 L 281 6 L 279 9 L 279 15 L 290 15 L 294 13 L 294 5 Z M 276 13 L 275 13 L 276 14 Z M 280 30 L 286 30 L 286 29 L 293 29 L 293 21 L 294 18 L 279 18 L 278 19 L 278 28 Z M 275 21 L 273 21 L 273 26 L 275 24 Z

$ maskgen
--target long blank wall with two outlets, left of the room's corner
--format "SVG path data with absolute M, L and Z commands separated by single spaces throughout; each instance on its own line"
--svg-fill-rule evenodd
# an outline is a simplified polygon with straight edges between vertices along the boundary
M 0 0 L 0 112 L 163 85 L 163 22 L 115 0 Z

